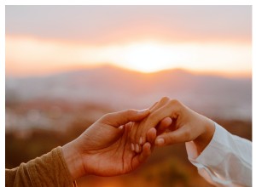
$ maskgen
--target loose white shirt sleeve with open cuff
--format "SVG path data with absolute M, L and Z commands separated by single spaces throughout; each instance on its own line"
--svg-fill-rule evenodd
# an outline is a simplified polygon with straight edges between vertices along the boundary
M 215 123 L 211 142 L 197 155 L 186 143 L 189 161 L 203 178 L 216 186 L 252 186 L 252 142 L 229 133 Z

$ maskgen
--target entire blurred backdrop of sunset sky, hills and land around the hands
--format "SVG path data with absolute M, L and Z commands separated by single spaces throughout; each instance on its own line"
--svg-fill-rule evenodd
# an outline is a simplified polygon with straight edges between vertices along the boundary
M 5 167 L 163 96 L 251 140 L 251 17 L 250 6 L 6 6 Z M 78 184 L 211 186 L 184 144 L 155 149 L 133 173 Z

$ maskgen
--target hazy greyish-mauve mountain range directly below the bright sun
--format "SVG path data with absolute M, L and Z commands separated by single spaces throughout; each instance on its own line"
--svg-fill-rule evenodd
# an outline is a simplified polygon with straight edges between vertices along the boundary
M 145 108 L 163 96 L 180 99 L 207 116 L 250 119 L 252 79 L 196 75 L 168 70 L 143 74 L 105 65 L 45 77 L 6 77 L 6 101 L 65 99 Z

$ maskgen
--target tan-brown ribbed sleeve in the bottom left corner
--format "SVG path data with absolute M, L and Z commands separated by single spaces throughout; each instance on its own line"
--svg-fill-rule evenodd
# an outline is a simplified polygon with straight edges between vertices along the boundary
M 5 169 L 5 186 L 76 186 L 68 172 L 61 147 L 44 156 Z

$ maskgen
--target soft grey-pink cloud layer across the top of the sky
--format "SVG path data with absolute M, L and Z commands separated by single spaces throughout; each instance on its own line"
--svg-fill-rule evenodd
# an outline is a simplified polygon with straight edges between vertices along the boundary
M 6 6 L 6 33 L 87 44 L 251 42 L 252 6 Z

